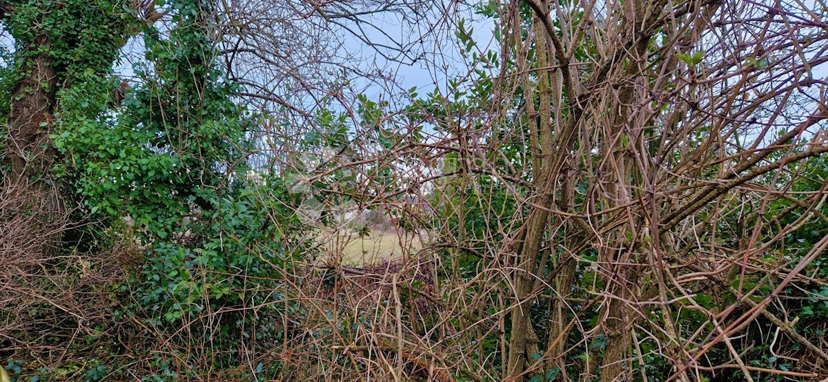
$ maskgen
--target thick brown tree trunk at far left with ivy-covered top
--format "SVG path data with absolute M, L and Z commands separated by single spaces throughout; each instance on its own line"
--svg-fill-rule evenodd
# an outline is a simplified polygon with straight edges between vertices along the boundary
M 72 87 L 87 87 L 84 79 L 90 76 L 112 73 L 134 20 L 129 9 L 108 1 L 0 2 L 2 28 L 14 39 L 12 80 L 4 81 L 11 98 L 4 100 L 9 108 L 3 188 L 7 196 L 25 200 L 20 211 L 36 217 L 36 227 L 29 229 L 42 238 L 38 251 L 43 253 L 60 244 L 68 214 L 65 189 L 53 171 L 60 158 L 51 135 L 57 114 L 66 112 L 60 98 Z M 95 92 L 108 97 L 106 88 Z

